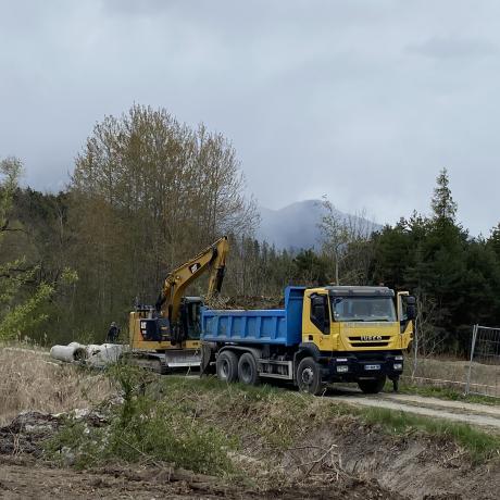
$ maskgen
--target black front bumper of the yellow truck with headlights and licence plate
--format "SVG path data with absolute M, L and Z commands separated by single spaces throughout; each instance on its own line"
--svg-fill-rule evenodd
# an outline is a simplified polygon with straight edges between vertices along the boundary
M 325 382 L 357 382 L 382 376 L 397 379 L 403 372 L 401 351 L 339 352 L 324 361 L 322 377 Z

